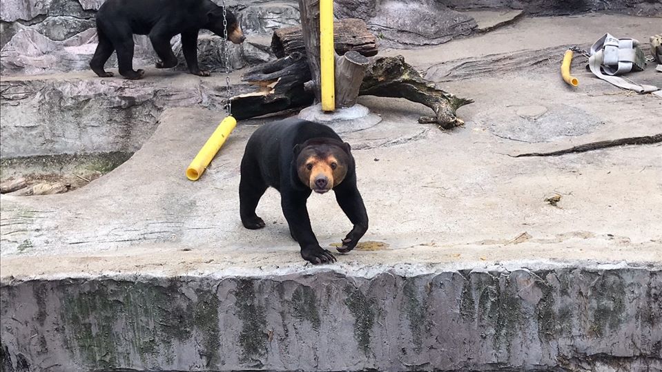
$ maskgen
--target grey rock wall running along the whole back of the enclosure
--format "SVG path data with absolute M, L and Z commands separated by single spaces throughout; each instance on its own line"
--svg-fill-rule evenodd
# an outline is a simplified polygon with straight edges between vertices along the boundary
M 88 70 L 97 39 L 95 11 L 104 0 L 3 0 L 0 2 L 0 71 L 9 74 L 46 74 Z M 219 1 L 220 2 L 220 1 Z M 228 1 L 249 38 L 231 45 L 232 68 L 273 59 L 269 37 L 275 28 L 299 23 L 296 0 Z M 525 9 L 532 14 L 568 14 L 612 10 L 662 17 L 656 0 L 336 0 L 338 18 L 359 18 L 379 37 L 382 47 L 410 47 L 445 43 L 471 34 L 476 21 L 456 10 L 476 8 Z M 211 40 L 210 40 L 211 39 Z M 260 41 L 258 41 L 260 40 Z M 152 65 L 155 52 L 146 37 L 135 37 L 135 65 Z M 173 39 L 173 45 L 178 41 Z M 201 41 L 202 65 L 222 70 L 218 58 L 220 38 Z M 181 53 L 180 53 L 181 54 Z M 181 56 L 181 55 L 180 55 Z M 183 60 L 183 59 L 182 59 Z M 108 63 L 116 65 L 115 56 Z

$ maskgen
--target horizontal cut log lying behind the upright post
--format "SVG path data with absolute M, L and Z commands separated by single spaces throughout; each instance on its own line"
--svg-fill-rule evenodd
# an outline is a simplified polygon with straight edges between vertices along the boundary
M 362 56 L 377 55 L 377 38 L 368 31 L 365 22 L 360 19 L 335 21 L 333 23 L 333 40 L 335 52 L 341 56 L 350 50 L 358 52 Z M 306 45 L 301 26 L 275 30 L 271 39 L 271 51 L 278 58 L 289 56 L 293 52 L 305 54 Z

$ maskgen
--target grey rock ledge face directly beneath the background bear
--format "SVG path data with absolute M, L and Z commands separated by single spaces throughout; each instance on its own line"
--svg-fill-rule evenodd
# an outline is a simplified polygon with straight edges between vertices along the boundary
M 1 158 L 73 153 L 135 152 L 166 107 L 222 111 L 225 79 L 148 70 L 165 79 L 101 79 L 88 72 L 45 79 L 6 79 L 2 92 Z M 233 94 L 247 89 L 233 81 Z

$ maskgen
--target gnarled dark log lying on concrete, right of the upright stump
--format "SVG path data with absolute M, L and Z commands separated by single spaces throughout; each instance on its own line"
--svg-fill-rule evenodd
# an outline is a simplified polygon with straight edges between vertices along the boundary
M 462 125 L 456 110 L 474 101 L 438 89 L 420 76 L 403 56 L 380 57 L 368 68 L 360 95 L 404 98 L 430 107 L 435 116 L 421 116 L 419 123 L 435 123 L 444 129 Z

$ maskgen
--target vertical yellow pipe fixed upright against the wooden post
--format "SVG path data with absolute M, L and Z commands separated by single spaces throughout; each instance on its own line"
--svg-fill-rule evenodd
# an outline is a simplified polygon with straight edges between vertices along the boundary
M 335 47 L 333 45 L 333 0 L 320 0 L 320 74 L 322 110 L 335 110 Z

